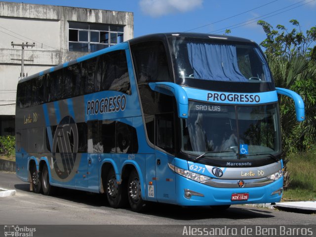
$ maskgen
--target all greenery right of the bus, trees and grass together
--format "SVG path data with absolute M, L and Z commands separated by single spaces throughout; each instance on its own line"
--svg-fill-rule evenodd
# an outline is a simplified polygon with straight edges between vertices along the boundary
M 276 87 L 300 94 L 305 103 L 305 121 L 296 121 L 294 103 L 279 96 L 282 158 L 284 161 L 284 198 L 316 198 L 316 26 L 301 30 L 297 20 L 290 20 L 290 31 L 282 25 L 272 27 L 258 21 L 267 39 L 260 45 L 275 79 Z M 296 196 L 295 196 L 296 195 Z

